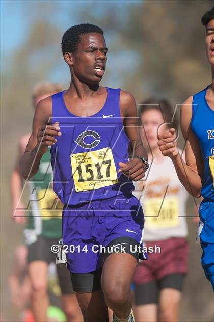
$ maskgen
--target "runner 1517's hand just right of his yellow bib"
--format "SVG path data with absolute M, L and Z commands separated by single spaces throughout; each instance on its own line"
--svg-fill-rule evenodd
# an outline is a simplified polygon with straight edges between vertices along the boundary
M 138 181 L 145 177 L 144 163 L 137 157 L 127 163 L 119 162 L 119 173 L 122 172 L 125 176 L 130 177 L 133 181 Z

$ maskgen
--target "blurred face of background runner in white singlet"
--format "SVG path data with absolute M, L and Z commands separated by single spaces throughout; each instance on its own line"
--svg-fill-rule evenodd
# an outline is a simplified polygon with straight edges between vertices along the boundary
M 157 129 L 164 122 L 162 113 L 156 109 L 151 109 L 141 114 L 141 134 L 147 151 L 158 148 Z M 147 137 L 147 138 L 146 138 Z

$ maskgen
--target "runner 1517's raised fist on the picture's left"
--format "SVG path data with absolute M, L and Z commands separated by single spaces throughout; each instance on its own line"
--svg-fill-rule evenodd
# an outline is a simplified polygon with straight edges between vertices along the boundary
M 55 137 L 62 135 L 59 125 L 59 122 L 56 122 L 53 125 L 46 125 L 45 127 L 39 128 L 37 132 L 37 148 L 39 149 L 39 153 L 46 153 L 48 146 L 54 145 L 57 142 Z

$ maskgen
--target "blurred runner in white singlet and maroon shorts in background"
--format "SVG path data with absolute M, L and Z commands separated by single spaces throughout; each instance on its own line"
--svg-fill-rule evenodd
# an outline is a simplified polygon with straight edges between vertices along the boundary
M 136 322 L 177 322 L 182 286 L 188 271 L 185 219 L 188 193 L 171 160 L 162 155 L 157 144 L 158 127 L 166 127 L 163 123 L 172 120 L 170 103 L 150 98 L 140 105 L 139 112 L 142 138 L 151 166 L 147 180 L 136 182 L 133 194 L 141 200 L 144 209 L 145 246 L 160 250 L 149 254 L 149 260 L 141 262 L 136 271 L 135 318 Z

